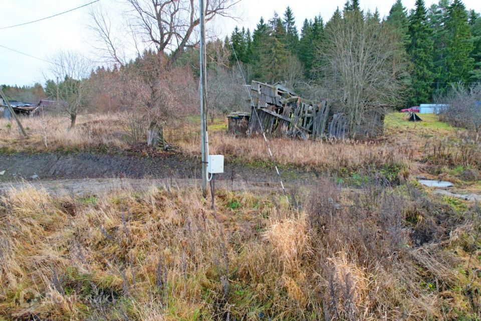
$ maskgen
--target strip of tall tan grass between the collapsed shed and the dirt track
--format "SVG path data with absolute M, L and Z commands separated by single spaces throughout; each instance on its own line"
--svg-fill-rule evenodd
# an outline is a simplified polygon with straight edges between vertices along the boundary
M 271 162 L 262 137 L 242 138 L 224 133 L 209 135 L 212 153 L 240 157 L 246 162 Z M 409 144 L 397 142 L 325 142 L 275 138 L 270 141 L 276 162 L 283 165 L 313 169 L 367 169 L 384 164 L 408 164 L 414 150 Z M 193 141 L 181 144 L 188 154 L 198 153 Z

